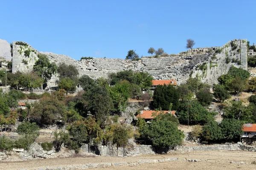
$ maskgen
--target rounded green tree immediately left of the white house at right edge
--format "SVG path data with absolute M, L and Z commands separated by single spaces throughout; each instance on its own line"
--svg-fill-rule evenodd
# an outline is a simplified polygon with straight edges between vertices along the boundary
M 223 138 L 225 140 L 239 139 L 243 134 L 242 125 L 243 122 L 237 119 L 223 119 L 220 124 Z

